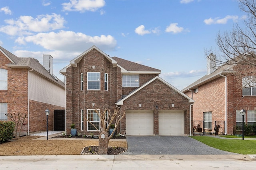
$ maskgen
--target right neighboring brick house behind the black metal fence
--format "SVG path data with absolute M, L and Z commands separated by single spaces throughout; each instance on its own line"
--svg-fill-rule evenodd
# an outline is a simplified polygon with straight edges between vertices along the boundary
M 239 88 L 242 79 L 237 80 L 232 74 L 233 66 L 222 65 L 217 68 L 213 62 L 215 57 L 210 59 L 211 57 L 214 55 L 208 57 L 207 75 L 184 88 L 182 92 L 195 100 L 194 126 L 200 124 L 206 129 L 205 132 L 216 133 L 216 125 L 217 128 L 220 125 L 218 134 L 236 134 L 236 130 L 242 127 L 241 109 L 246 110 L 246 124 L 256 123 L 256 84 L 254 82 L 254 87 Z M 248 76 L 250 74 L 244 78 Z

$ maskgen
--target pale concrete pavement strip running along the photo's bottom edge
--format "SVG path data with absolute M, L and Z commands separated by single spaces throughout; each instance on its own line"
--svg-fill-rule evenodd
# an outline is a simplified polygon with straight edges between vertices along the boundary
M 254 170 L 256 155 L 36 155 L 0 156 L 8 170 Z

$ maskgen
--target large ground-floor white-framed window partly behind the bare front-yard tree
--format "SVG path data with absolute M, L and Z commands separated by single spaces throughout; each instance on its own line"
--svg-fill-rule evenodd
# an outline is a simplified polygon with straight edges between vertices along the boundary
M 100 113 L 100 110 L 97 110 Z M 100 117 L 95 109 L 87 109 L 87 119 L 100 129 Z M 96 131 L 95 127 L 87 121 L 87 131 Z

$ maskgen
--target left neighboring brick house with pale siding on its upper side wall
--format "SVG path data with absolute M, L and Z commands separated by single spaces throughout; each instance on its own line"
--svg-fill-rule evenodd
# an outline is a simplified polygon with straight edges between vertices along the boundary
M 50 55 L 44 55 L 44 63 L 45 68 L 34 58 L 19 58 L 0 46 L 0 120 L 9 120 L 6 113 L 26 114 L 22 133 L 27 135 L 46 131 L 47 108 L 49 130 L 56 129 L 56 110 L 64 112 L 65 125 L 65 84 L 52 75 Z

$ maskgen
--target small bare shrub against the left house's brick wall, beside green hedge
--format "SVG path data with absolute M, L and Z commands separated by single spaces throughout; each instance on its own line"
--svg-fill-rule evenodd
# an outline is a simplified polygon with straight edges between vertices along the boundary
M 10 113 L 6 114 L 14 123 L 15 123 L 15 137 L 20 137 L 20 132 L 22 129 L 22 125 L 27 117 L 25 113 Z M 18 129 L 20 127 L 20 129 Z M 19 133 L 18 133 L 19 130 Z

